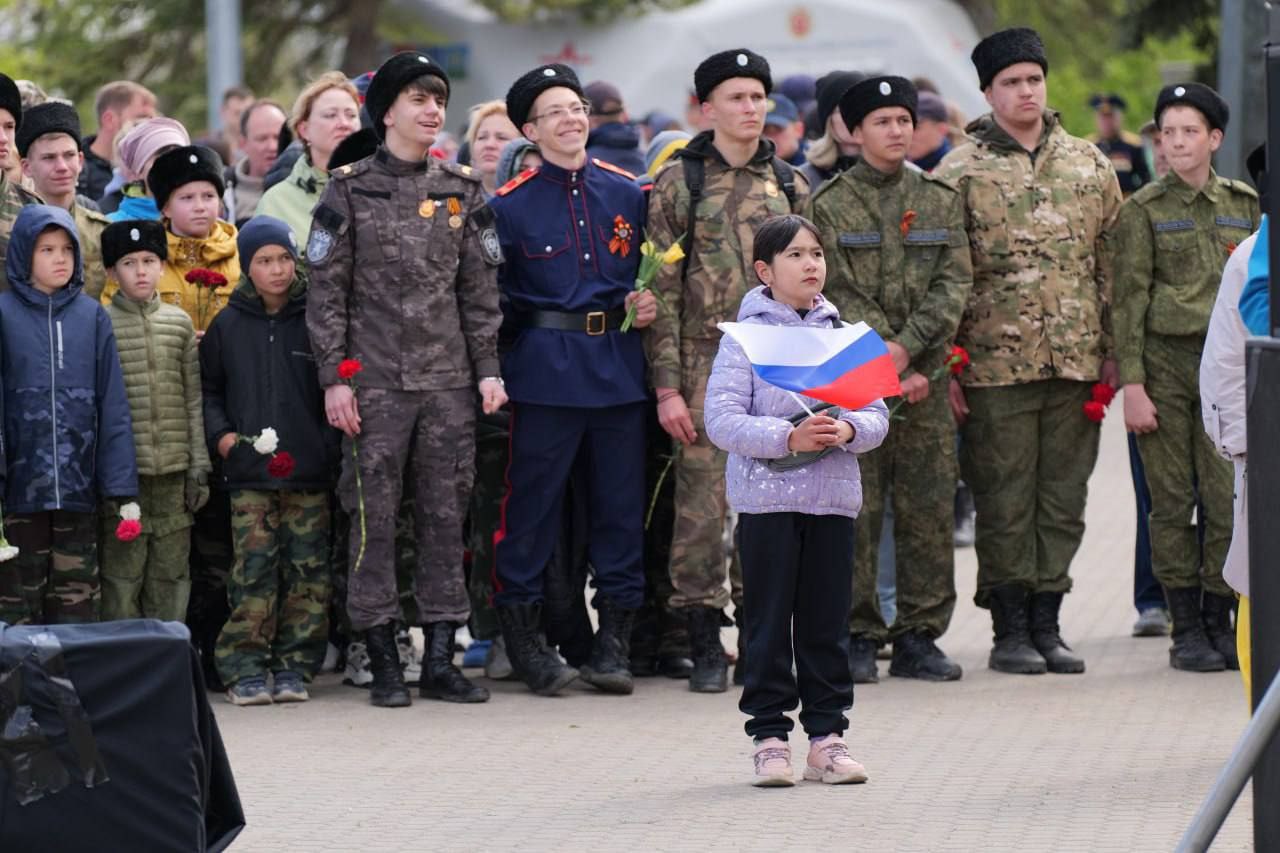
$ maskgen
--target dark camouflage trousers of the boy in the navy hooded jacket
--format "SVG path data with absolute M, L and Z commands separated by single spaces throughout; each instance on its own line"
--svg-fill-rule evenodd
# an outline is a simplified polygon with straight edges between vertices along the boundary
M 14 512 L 4 530 L 18 556 L 0 562 L 0 622 L 96 622 L 97 521 L 93 512 Z

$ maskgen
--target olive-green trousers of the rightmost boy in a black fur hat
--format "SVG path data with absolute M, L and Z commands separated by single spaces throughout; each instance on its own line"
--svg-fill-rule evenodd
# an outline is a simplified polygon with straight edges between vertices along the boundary
M 1138 435 L 1138 453 L 1151 492 L 1151 566 L 1170 589 L 1203 585 L 1234 596 L 1222 580 L 1231 546 L 1231 491 L 1235 471 L 1217 455 L 1204 432 L 1199 401 L 1201 337 L 1171 338 L 1148 333 L 1143 348 L 1147 396 L 1160 428 Z M 1203 515 L 1204 544 L 1192 520 Z

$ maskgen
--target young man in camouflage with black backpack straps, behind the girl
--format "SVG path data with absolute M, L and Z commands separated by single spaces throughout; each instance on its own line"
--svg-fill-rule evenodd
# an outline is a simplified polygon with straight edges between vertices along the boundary
M 648 237 L 659 248 L 684 240 L 686 260 L 663 266 L 654 280 L 663 309 L 645 333 L 658 420 L 680 446 L 675 466 L 676 521 L 671 544 L 671 603 L 689 613 L 694 672 L 689 689 L 726 690 L 719 642 L 724 588 L 724 451 L 703 426 L 707 379 L 719 347 L 718 323 L 733 320 L 756 278 L 755 229 L 769 216 L 799 213 L 804 175 L 778 160 L 760 138 L 769 64 L 750 50 L 714 54 L 694 72 L 694 88 L 710 131 L 676 152 L 649 197 Z M 744 104 L 755 109 L 745 110 Z M 690 175 L 701 188 L 692 204 Z M 741 621 L 741 620 L 739 620 Z

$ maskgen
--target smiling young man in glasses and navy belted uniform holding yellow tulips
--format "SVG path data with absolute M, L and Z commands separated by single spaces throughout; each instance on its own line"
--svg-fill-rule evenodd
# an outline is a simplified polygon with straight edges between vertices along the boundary
M 507 115 L 538 145 L 543 165 L 489 202 L 504 257 L 503 353 L 512 400 L 511 462 L 494 534 L 494 605 L 516 674 L 535 693 L 577 675 L 631 693 L 631 629 L 644 599 L 645 365 L 640 334 L 657 300 L 635 293 L 644 192 L 634 175 L 586 152 L 589 104 L 566 65 L 541 65 L 507 92 Z M 585 453 L 585 456 L 584 456 Z M 544 570 L 556 547 L 575 460 L 590 503 L 588 557 L 600 616 L 581 672 L 543 633 Z

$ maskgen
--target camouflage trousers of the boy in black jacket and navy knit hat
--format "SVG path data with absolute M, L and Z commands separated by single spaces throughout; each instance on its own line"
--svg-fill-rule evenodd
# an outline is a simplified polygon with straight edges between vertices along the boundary
M 234 489 L 232 615 L 214 662 L 224 684 L 292 670 L 310 679 L 329 634 L 329 496 Z

